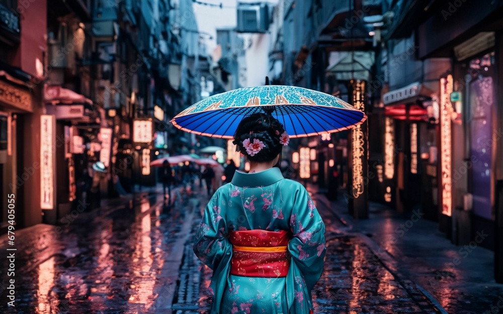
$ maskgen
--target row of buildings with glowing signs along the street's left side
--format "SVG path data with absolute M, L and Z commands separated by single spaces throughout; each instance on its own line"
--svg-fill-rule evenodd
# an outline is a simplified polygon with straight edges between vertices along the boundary
M 0 201 L 15 194 L 18 228 L 91 210 L 118 183 L 153 186 L 150 161 L 195 146 L 169 123 L 201 99 L 209 68 L 192 5 L 0 3 Z

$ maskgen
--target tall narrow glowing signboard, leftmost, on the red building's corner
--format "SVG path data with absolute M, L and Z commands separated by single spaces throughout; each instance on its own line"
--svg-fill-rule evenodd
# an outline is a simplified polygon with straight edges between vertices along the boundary
M 40 116 L 40 207 L 54 208 L 54 116 Z

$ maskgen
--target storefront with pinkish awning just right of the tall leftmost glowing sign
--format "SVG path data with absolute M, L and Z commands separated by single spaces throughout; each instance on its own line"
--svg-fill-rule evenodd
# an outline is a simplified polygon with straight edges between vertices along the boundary
M 53 169 L 47 169 L 47 177 L 52 180 L 44 184 L 50 190 L 53 185 L 53 201 L 43 206 L 46 215 L 46 223 L 56 223 L 72 210 L 86 210 L 85 203 L 76 203 L 76 199 L 82 200 L 80 188 L 81 182 L 87 178 L 81 171 L 81 163 L 87 163 L 85 158 L 85 140 L 82 137 L 82 128 L 95 130 L 97 133 L 98 114 L 93 111 L 93 102 L 85 96 L 61 86 L 46 86 L 44 93 L 46 115 L 43 117 L 50 120 L 46 132 L 52 130 L 48 140 L 53 141 L 50 151 L 50 160 L 44 162 L 44 167 L 50 168 L 50 164 L 58 165 Z M 52 126 L 49 126 L 51 124 Z M 46 143 L 42 139 L 42 150 Z M 79 171 L 76 171 L 78 169 Z M 43 178 L 45 178 L 43 176 Z M 52 182 L 52 183 L 51 183 Z M 57 184 L 54 184 L 57 182 Z M 77 205 L 80 205 L 78 207 Z M 77 208 L 78 207 L 78 208 Z

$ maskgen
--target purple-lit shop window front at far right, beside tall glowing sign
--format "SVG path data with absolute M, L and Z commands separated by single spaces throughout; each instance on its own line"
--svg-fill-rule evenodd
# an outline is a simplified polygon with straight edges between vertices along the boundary
M 484 230 L 490 236 L 481 246 L 494 249 L 496 144 L 501 137 L 496 128 L 494 46 L 457 61 L 453 77 L 455 99 L 450 99 L 456 141 L 453 151 L 457 150 L 451 171 L 454 189 L 451 203 L 457 227 L 454 237 L 456 243 L 463 244 L 472 238 L 470 234 L 474 231 Z

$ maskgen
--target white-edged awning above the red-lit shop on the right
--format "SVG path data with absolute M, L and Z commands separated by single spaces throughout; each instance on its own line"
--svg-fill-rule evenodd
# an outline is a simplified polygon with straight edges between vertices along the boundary
M 421 98 L 431 98 L 438 94 L 439 82 L 414 82 L 402 88 L 388 91 L 383 95 L 384 106 L 390 104 L 412 103 Z

